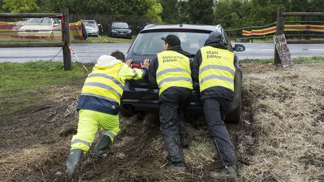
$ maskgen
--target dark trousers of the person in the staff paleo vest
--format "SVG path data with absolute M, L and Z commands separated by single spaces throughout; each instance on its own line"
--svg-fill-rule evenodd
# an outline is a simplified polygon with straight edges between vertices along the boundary
M 230 103 L 231 100 L 224 98 L 207 98 L 203 101 L 209 135 L 224 166 L 237 163 L 234 147 L 224 123 Z

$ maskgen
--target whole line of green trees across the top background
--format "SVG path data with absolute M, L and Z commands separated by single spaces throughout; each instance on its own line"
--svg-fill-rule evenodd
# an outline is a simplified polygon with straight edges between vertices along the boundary
M 222 24 L 225 28 L 262 26 L 287 12 L 322 12 L 322 0 L 0 0 L 0 12 L 137 15 L 169 24 Z M 305 17 L 287 17 L 305 20 Z M 312 17 L 311 20 L 324 20 Z

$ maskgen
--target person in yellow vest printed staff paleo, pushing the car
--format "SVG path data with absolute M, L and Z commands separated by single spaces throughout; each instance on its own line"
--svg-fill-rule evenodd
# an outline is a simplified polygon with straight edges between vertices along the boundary
M 236 156 L 224 120 L 234 97 L 234 53 L 218 31 L 210 33 L 205 47 L 197 51 L 192 63 L 192 77 L 199 82 L 209 135 L 225 169 L 212 172 L 216 178 L 236 177 Z

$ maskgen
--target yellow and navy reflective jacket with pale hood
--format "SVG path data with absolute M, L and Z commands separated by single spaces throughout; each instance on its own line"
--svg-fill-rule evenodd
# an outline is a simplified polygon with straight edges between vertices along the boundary
M 117 115 L 125 80 L 142 79 L 145 71 L 132 69 L 121 61 L 107 67 L 95 66 L 85 81 L 76 109 Z

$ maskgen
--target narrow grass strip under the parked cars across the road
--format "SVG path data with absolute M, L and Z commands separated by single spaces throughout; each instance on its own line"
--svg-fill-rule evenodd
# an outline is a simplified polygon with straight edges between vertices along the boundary
M 88 40 L 75 40 L 71 39 L 71 43 L 132 43 L 135 39 L 135 36 L 132 36 L 132 39 L 128 38 L 116 38 L 103 35 L 100 37 L 90 36 Z M 0 42 L 53 42 L 53 41 L 62 41 L 58 39 L 18 39 L 18 38 L 0 38 Z

